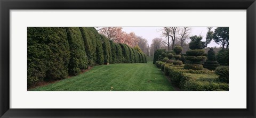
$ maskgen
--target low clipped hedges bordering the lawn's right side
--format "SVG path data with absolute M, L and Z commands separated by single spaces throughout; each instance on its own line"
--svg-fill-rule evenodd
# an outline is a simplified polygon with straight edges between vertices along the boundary
M 183 66 L 162 61 L 156 61 L 156 66 L 170 77 L 175 86 L 182 90 L 229 90 L 228 66 L 219 66 L 215 71 L 207 69 L 186 70 L 183 69 Z M 194 77 L 194 75 L 200 77 Z

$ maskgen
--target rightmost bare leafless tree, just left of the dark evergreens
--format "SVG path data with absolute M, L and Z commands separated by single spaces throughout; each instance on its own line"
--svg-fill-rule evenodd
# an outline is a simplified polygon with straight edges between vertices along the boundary
M 183 27 L 179 31 L 179 36 L 180 36 L 180 46 L 183 47 L 185 41 L 187 38 L 189 38 L 191 29 L 189 27 Z

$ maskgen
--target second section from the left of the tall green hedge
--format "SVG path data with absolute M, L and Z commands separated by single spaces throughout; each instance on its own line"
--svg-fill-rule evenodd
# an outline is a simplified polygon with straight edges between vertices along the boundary
M 70 75 L 77 75 L 81 69 L 87 68 L 87 56 L 84 41 L 79 28 L 66 28 L 70 50 L 68 72 Z

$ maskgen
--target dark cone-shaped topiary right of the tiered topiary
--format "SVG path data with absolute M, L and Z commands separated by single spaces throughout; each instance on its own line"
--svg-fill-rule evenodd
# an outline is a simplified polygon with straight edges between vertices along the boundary
M 219 66 L 219 63 L 216 61 L 213 48 L 210 48 L 210 50 L 207 52 L 207 61 L 204 62 L 203 66 L 209 70 L 215 70 Z

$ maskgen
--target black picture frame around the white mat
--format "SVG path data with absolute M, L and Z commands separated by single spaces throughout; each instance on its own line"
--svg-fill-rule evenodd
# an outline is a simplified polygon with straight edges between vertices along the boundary
M 255 0 L 0 0 L 0 117 L 255 117 Z M 246 109 L 11 109 L 10 10 L 247 10 Z M 242 40 L 242 39 L 241 39 Z M 235 104 L 235 103 L 234 103 Z

